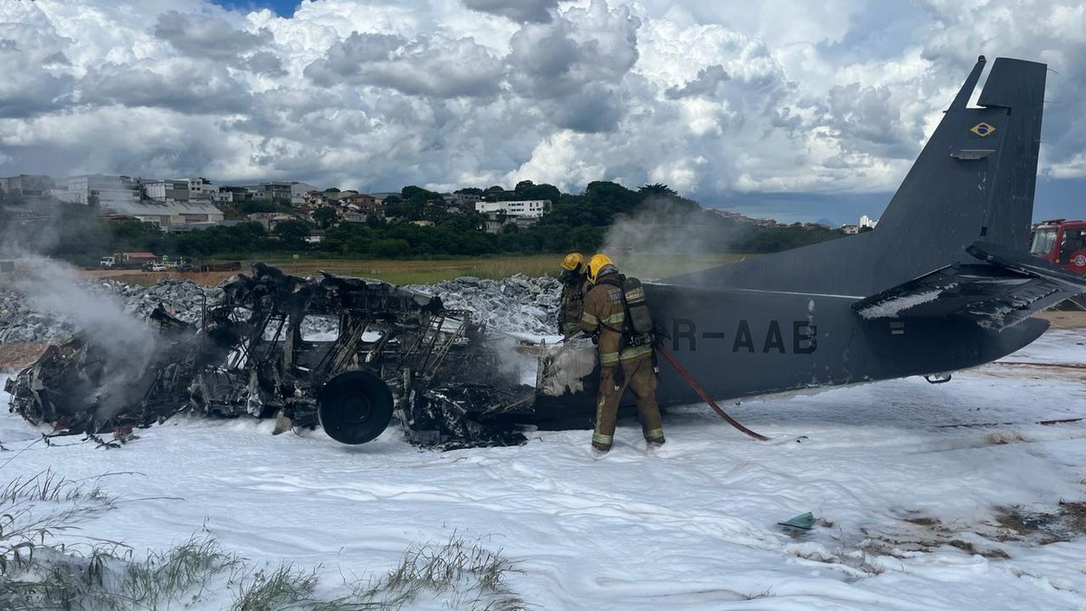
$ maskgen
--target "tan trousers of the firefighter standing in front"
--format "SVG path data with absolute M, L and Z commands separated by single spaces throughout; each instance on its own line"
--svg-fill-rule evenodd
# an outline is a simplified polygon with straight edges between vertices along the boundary
M 615 388 L 618 367 L 622 367 L 619 388 Z M 629 388 L 637 401 L 637 420 L 641 433 L 651 444 L 664 442 L 664 426 L 660 424 L 660 408 L 656 404 L 656 372 L 653 371 L 653 356 L 644 354 L 620 361 L 619 365 L 601 367 L 599 394 L 596 396 L 596 424 L 592 433 L 592 446 L 609 450 L 615 440 L 615 421 L 622 394 Z

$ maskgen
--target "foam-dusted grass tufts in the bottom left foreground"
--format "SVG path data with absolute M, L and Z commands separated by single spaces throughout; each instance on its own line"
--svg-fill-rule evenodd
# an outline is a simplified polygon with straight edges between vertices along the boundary
M 72 532 L 116 507 L 100 479 L 72 482 L 47 470 L 0 488 L 0 609 L 225 608 L 227 599 L 232 611 L 391 611 L 416 601 L 479 611 L 528 608 L 505 583 L 516 572 L 509 561 L 455 536 L 409 548 L 383 577 L 344 582 L 349 594 L 333 599 L 315 595 L 317 569 L 286 562 L 254 569 L 207 537 L 134 561 L 123 543 Z

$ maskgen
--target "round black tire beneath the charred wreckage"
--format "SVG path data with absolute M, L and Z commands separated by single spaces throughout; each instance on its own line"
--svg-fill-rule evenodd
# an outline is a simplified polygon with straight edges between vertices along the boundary
M 328 381 L 317 398 L 317 415 L 329 437 L 341 444 L 365 444 L 392 420 L 392 391 L 364 371 L 343 372 Z

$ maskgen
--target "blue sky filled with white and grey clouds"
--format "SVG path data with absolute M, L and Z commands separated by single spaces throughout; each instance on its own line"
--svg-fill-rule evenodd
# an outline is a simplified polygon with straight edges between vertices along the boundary
M 1083 23 L 1076 0 L 0 0 L 0 176 L 662 183 L 855 222 L 985 54 L 1051 68 L 1035 215 L 1079 217 Z

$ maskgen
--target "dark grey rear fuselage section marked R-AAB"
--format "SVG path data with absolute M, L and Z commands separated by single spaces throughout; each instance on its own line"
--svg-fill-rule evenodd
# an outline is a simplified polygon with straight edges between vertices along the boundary
M 866 320 L 848 295 L 647 285 L 662 346 L 720 399 L 952 372 L 1033 341 L 1047 323 L 1001 333 L 960 319 Z M 661 404 L 697 401 L 660 364 Z

